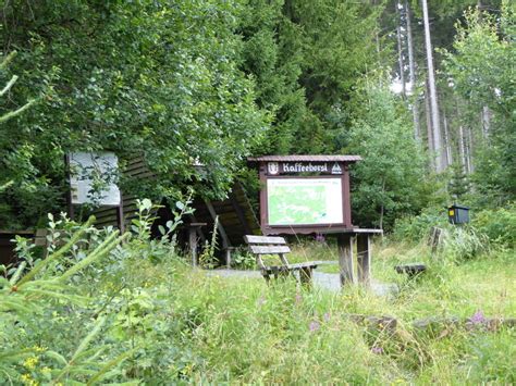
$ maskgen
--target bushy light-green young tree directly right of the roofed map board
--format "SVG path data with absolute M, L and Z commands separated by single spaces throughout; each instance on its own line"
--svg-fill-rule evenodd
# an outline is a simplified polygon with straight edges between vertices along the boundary
M 384 86 L 369 82 L 355 95 L 346 148 L 364 159 L 352 169 L 354 219 L 389 229 L 396 217 L 427 206 L 434 188 L 425 186 L 425 158 L 408 112 Z

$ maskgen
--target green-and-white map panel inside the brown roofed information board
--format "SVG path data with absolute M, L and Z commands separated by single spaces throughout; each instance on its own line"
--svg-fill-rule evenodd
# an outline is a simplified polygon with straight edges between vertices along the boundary
M 269 225 L 342 224 L 341 178 L 270 178 Z

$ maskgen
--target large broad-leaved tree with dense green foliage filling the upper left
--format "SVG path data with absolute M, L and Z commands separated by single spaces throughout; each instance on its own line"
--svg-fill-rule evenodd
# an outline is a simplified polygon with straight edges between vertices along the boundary
M 74 150 L 143 154 L 157 178 L 124 182 L 127 192 L 170 197 L 198 182 L 223 195 L 269 121 L 238 69 L 241 11 L 225 1 L 7 3 L 2 43 L 16 47 L 10 70 L 23 84 L 2 109 L 46 98 L 2 124 L 0 182 L 14 180 L 2 224 L 33 225 L 60 208 L 63 154 Z

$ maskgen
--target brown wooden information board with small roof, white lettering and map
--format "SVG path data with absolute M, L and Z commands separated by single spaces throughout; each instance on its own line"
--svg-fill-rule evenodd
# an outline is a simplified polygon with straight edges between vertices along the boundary
M 265 155 L 249 159 L 260 174 L 265 235 L 353 228 L 349 164 L 358 155 Z

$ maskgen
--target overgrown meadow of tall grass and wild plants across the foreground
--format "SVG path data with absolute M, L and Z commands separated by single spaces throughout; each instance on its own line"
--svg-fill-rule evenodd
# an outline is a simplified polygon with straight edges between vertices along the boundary
M 380 297 L 208 276 L 176 250 L 179 219 L 150 239 L 149 208 L 123 236 L 51 217 L 46 259 L 20 241 L 0 279 L 1 384 L 516 382 L 514 326 L 486 323 L 516 315 L 514 233 L 487 232 L 500 215 L 451 228 L 433 253 L 417 236 L 428 216 L 398 224 L 374 246 L 374 279 L 398 286 Z M 298 244 L 294 259 L 331 250 Z M 404 261 L 429 269 L 409 279 Z

